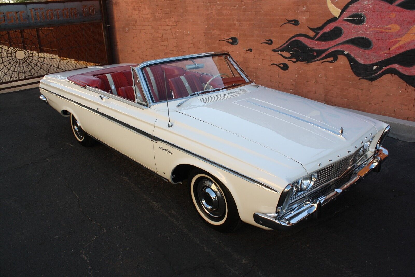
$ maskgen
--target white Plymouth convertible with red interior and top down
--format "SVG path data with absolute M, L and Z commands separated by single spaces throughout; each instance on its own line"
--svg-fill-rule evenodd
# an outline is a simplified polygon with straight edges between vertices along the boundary
M 219 231 L 291 228 L 388 157 L 387 124 L 256 85 L 227 52 L 47 75 L 40 90 L 81 145 L 187 183 Z

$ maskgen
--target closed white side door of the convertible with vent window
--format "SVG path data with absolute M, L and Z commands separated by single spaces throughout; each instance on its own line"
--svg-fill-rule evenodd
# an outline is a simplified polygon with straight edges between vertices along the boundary
M 135 101 L 97 94 L 96 110 L 100 119 L 90 126 L 90 134 L 145 167 L 156 171 L 152 134 L 157 111 L 149 108 L 137 72 L 132 68 Z M 138 96 L 137 96 L 138 95 Z M 143 98 L 144 97 L 144 98 Z

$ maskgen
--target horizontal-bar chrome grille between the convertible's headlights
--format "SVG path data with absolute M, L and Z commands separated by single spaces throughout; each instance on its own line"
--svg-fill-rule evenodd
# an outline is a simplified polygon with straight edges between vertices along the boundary
M 315 180 L 314 187 L 325 184 L 333 179 L 338 178 L 346 172 L 359 158 L 360 148 L 352 155 L 339 160 L 337 163 L 327 166 L 322 170 L 317 171 L 317 180 Z M 363 155 L 363 152 L 361 153 Z

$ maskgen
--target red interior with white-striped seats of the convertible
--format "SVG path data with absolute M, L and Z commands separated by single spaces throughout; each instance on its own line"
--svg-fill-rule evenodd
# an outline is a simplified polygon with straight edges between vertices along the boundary
M 137 65 L 132 66 L 134 67 Z M 132 87 L 133 83 L 130 67 L 131 66 L 117 66 L 95 70 L 70 76 L 68 77 L 68 80 L 83 87 L 88 85 L 109 93 L 116 92 L 118 96 L 134 101 L 134 88 Z M 173 97 L 186 97 L 190 92 L 193 93 L 203 90 L 203 84 L 206 84 L 212 78 L 211 75 L 186 70 L 178 66 L 157 65 L 150 66 L 149 70 L 151 74 L 147 69 L 144 69 L 144 75 L 149 82 L 150 92 L 154 102 L 166 100 L 166 92 L 168 99 L 171 99 Z M 108 78 L 108 75 L 106 74 L 110 74 L 111 78 Z M 164 78 L 164 75 L 166 75 L 166 78 Z M 183 78 L 180 78 L 180 76 L 183 76 L 184 80 Z M 110 79 L 112 79 L 113 87 Z M 241 77 L 221 78 L 218 76 L 211 80 L 209 85 L 212 85 L 214 88 L 220 88 L 226 85 L 244 82 L 245 80 Z M 187 89 L 187 86 L 190 86 L 190 92 Z M 170 90 L 173 91 L 173 97 L 171 96 Z M 140 90 L 140 94 L 142 94 L 144 99 L 142 90 Z

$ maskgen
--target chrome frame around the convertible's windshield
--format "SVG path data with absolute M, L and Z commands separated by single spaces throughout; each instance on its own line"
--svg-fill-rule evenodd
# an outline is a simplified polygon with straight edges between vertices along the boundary
M 154 102 L 153 97 L 151 96 L 151 91 L 150 91 L 150 88 L 149 88 L 149 84 L 147 83 L 147 80 L 144 76 L 144 72 L 143 72 L 144 68 L 146 68 L 148 66 L 155 66 L 155 65 L 158 65 L 158 64 L 161 64 L 161 63 L 168 63 L 168 62 L 174 62 L 174 61 L 183 61 L 183 60 L 195 59 L 195 58 L 204 58 L 204 57 L 209 57 L 209 56 L 225 56 L 225 58 L 227 58 L 230 61 L 230 63 L 232 63 L 232 66 L 234 66 L 234 68 L 238 71 L 239 75 L 241 75 L 241 77 L 245 79 L 246 83 L 243 84 L 243 85 L 246 85 L 248 83 L 252 83 L 252 81 L 248 77 L 248 75 L 234 61 L 234 59 L 229 55 L 229 52 L 227 52 L 227 51 L 208 52 L 208 53 L 178 56 L 178 57 L 171 57 L 171 58 L 161 58 L 161 59 L 157 59 L 157 60 L 153 60 L 153 61 L 146 61 L 146 62 L 143 62 L 143 63 L 140 63 L 139 65 L 137 65 L 137 67 L 136 67 L 137 71 L 136 72 L 138 74 L 138 78 L 140 80 L 140 83 L 142 84 L 144 94 L 146 95 L 147 100 L 149 100 L 148 101 L 149 107 L 151 107 L 151 105 L 153 105 L 153 104 L 163 103 L 163 102 L 166 102 L 166 101 L 164 100 L 164 101 Z M 234 88 L 234 87 L 232 87 L 232 88 Z M 227 89 L 226 88 L 218 89 L 218 90 L 214 90 L 212 92 L 207 92 L 207 94 L 222 91 L 222 90 L 227 90 Z M 186 97 L 182 97 L 182 98 L 184 100 Z

